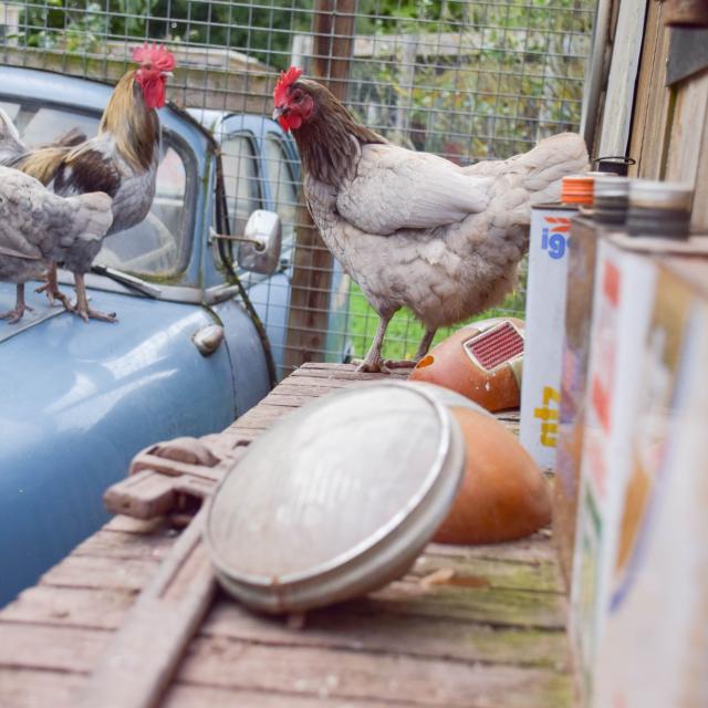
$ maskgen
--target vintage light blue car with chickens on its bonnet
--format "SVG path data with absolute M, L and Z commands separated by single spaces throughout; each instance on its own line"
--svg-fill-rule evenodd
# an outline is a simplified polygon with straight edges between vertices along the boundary
M 0 67 L 0 107 L 29 144 L 95 134 L 111 91 Z M 160 111 L 152 212 L 107 238 L 86 277 L 118 323 L 86 324 L 31 284 L 33 312 L 0 321 L 0 605 L 105 522 L 103 491 L 139 449 L 223 429 L 282 374 L 296 150 L 269 118 L 197 117 Z M 60 271 L 73 295 L 71 282 Z M 0 310 L 13 299 L 0 283 Z

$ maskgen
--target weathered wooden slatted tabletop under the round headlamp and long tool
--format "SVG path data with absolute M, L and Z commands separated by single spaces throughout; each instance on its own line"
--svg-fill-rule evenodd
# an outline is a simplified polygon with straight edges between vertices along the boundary
M 222 435 L 256 437 L 320 395 L 377 377 L 304 366 Z M 0 706 L 75 706 L 177 538 L 159 521 L 116 518 L 0 612 Z M 431 544 L 402 581 L 312 612 L 300 629 L 219 595 L 163 705 L 570 707 L 565 620 L 548 532 Z

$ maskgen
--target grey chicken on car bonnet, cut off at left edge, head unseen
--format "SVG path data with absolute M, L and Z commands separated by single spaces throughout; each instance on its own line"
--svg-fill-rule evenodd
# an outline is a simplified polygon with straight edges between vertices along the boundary
M 0 167 L 0 280 L 18 289 L 14 309 L 0 320 L 18 322 L 30 310 L 24 283 L 39 278 L 58 251 L 80 239 L 101 242 L 112 222 L 111 198 L 103 192 L 63 198 L 29 175 Z

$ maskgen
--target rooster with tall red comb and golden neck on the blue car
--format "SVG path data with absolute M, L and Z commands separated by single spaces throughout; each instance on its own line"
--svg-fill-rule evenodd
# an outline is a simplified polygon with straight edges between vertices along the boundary
M 165 82 L 175 58 L 164 48 L 136 48 L 139 64 L 118 81 L 106 106 L 96 137 L 79 145 L 66 136 L 59 143 L 28 148 L 7 115 L 0 114 L 0 163 L 39 179 L 62 197 L 103 191 L 113 199 L 113 226 L 106 233 L 139 223 L 153 205 L 159 160 L 160 126 L 157 108 L 165 105 Z M 88 306 L 84 274 L 101 250 L 102 240 L 80 238 L 61 248 L 50 263 L 46 290 L 50 301 L 61 300 L 84 321 L 115 321 Z M 70 305 L 56 284 L 56 262 L 73 272 L 76 303 Z

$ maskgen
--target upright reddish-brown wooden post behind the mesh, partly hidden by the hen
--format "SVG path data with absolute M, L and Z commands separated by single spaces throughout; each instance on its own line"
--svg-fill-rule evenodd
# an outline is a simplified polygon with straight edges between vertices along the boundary
M 346 100 L 356 0 L 316 0 L 312 75 Z M 330 310 L 332 254 L 306 207 L 298 209 L 298 244 L 290 295 L 285 368 L 323 361 Z

